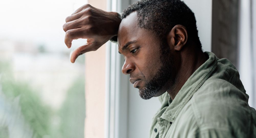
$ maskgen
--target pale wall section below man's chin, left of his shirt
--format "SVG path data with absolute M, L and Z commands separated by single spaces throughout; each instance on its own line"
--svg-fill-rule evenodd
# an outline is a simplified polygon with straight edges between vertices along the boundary
M 129 84 L 128 94 L 128 138 L 149 137 L 152 118 L 160 108 L 160 102 L 157 97 L 142 99 L 132 84 Z

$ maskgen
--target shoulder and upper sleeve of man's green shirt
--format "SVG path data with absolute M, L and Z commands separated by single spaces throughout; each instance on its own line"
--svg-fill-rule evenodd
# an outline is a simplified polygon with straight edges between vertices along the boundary
M 253 128 L 255 112 L 248 105 L 248 95 L 237 70 L 225 62 L 218 62 L 216 71 L 191 98 L 191 105 L 202 132 L 246 136 L 251 133 L 249 128 Z

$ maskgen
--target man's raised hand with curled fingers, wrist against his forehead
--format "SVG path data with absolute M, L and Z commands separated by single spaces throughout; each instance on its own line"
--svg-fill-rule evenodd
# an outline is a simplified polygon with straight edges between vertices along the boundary
M 89 4 L 78 8 L 66 18 L 63 30 L 66 32 L 65 44 L 71 47 L 74 39 L 87 39 L 87 44 L 75 49 L 70 61 L 75 62 L 79 55 L 89 51 L 96 51 L 104 43 L 117 35 L 121 19 L 115 12 L 107 12 L 92 7 Z

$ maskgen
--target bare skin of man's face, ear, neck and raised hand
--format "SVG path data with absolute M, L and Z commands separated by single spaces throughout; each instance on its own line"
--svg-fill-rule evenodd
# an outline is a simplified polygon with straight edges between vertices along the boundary
M 83 53 L 97 50 L 118 34 L 119 52 L 125 56 L 122 72 L 130 74 L 130 82 L 134 87 L 143 88 L 159 69 L 161 42 L 154 32 L 138 27 L 136 12 L 131 13 L 122 22 L 117 17 L 117 13 L 106 12 L 91 5 L 82 6 L 67 17 L 67 23 L 63 25 L 67 47 L 71 47 L 73 39 L 88 39 L 86 45 L 72 53 L 71 62 L 74 63 Z M 182 25 L 174 26 L 166 36 L 172 57 L 175 58 L 172 69 L 175 83 L 172 84 L 172 78 L 169 78 L 155 97 L 167 91 L 170 98 L 174 99 L 188 78 L 207 60 L 204 53 L 188 37 L 187 30 Z M 124 47 L 125 45 L 127 47 Z

